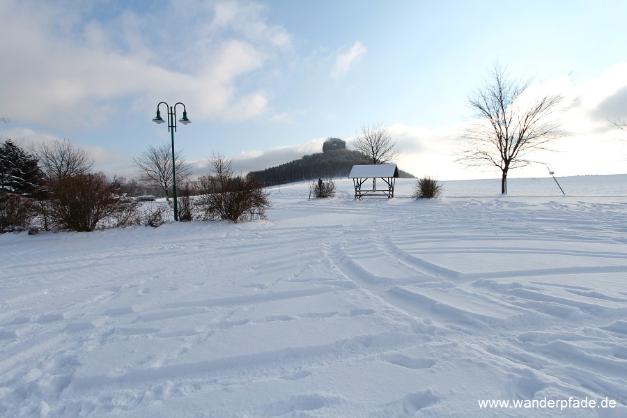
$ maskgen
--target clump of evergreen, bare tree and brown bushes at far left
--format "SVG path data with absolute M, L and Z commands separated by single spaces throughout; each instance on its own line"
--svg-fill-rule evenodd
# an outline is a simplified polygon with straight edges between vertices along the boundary
M 31 153 L 0 144 L 0 233 L 93 231 L 101 221 L 125 224 L 134 203 L 121 182 L 91 171 L 93 160 L 70 141 L 41 144 Z

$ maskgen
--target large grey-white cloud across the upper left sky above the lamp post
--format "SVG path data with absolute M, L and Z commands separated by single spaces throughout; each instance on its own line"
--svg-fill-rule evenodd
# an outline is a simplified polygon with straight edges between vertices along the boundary
M 254 3 L 173 2 L 141 19 L 116 10 L 107 22 L 89 17 L 88 3 L 2 3 L 0 26 L 12 36 L 0 39 L 10 56 L 0 66 L 0 115 L 15 123 L 98 126 L 129 110 L 123 100 L 145 111 L 164 98 L 192 104 L 196 117 L 255 117 L 268 98 L 240 79 L 291 44 Z M 180 24 L 183 13 L 196 15 Z

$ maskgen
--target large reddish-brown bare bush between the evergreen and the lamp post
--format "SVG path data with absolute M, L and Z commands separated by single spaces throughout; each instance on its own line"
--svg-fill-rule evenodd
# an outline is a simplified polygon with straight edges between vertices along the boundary
M 120 186 L 118 180 L 109 180 L 103 173 L 49 180 L 49 224 L 54 229 L 88 232 L 132 219 L 136 204 L 118 195 Z

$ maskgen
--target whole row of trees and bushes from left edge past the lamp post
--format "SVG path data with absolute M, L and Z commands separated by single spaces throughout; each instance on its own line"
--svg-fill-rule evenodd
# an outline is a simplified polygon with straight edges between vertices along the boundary
M 91 157 L 68 140 L 40 144 L 30 151 L 10 140 L 1 143 L 0 233 L 89 232 L 167 222 L 169 204 L 144 208 L 133 198 L 158 189 L 137 180 L 108 178 L 92 168 Z M 210 168 L 211 173 L 199 180 L 180 183 L 176 199 L 180 210 L 174 204 L 174 219 L 265 219 L 271 206 L 269 192 L 255 180 L 235 176 L 231 160 L 225 157 L 213 157 Z

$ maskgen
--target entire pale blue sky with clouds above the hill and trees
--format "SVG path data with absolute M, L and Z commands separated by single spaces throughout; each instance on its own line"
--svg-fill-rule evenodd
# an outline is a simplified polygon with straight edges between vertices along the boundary
M 415 176 L 498 178 L 455 160 L 499 63 L 571 104 L 568 136 L 510 177 L 626 173 L 608 121 L 627 119 L 626 15 L 619 0 L 2 0 L 0 139 L 71 139 L 137 178 L 133 158 L 171 141 L 157 104 L 180 102 L 175 148 L 199 175 L 215 153 L 246 173 L 380 123 Z

